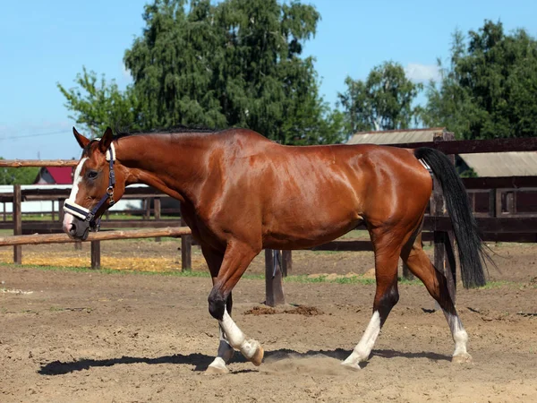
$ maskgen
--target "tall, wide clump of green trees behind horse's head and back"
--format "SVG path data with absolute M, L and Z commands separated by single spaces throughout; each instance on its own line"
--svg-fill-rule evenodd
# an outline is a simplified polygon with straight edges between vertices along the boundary
M 186 5 L 190 4 L 187 11 Z M 95 73 L 60 90 L 77 121 L 135 129 L 242 126 L 283 143 L 338 141 L 342 116 L 319 94 L 303 45 L 320 14 L 298 1 L 154 0 L 124 54 L 133 84 L 96 85 Z M 85 93 L 83 93 L 83 91 Z

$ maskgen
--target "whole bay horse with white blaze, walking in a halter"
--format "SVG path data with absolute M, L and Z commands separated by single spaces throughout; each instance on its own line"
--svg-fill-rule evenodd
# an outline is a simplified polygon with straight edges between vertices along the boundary
M 261 364 L 263 348 L 244 335 L 231 311 L 232 290 L 262 249 L 312 248 L 361 223 L 373 244 L 376 294 L 371 321 L 342 364 L 360 369 L 359 363 L 369 358 L 399 299 L 399 257 L 445 314 L 455 341 L 452 361 L 471 360 L 447 280 L 422 250 L 432 174 L 444 191 L 465 287 L 485 284 L 486 253 L 465 187 L 438 150 L 372 144 L 284 146 L 246 129 L 115 137 L 107 128 L 102 138 L 92 141 L 75 128 L 73 133 L 83 151 L 64 206 L 63 228 L 69 236 L 85 239 L 129 184 L 148 184 L 181 202 L 213 282 L 209 313 L 217 319 L 220 338 L 207 371 L 228 372 L 234 349 Z

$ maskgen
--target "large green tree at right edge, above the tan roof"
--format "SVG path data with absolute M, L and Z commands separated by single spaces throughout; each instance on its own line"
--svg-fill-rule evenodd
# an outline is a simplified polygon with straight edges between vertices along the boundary
M 535 135 L 537 41 L 525 30 L 506 35 L 492 21 L 453 38 L 450 64 L 439 63 L 442 78 L 427 88 L 423 123 L 465 139 Z

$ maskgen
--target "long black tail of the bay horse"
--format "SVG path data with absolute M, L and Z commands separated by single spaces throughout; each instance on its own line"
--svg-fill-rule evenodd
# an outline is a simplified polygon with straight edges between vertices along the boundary
M 414 156 L 430 166 L 442 186 L 447 212 L 453 223 L 463 285 L 465 288 L 484 286 L 483 263 L 485 259 L 490 260 L 490 256 L 483 249 L 465 185 L 451 161 L 440 151 L 421 148 L 414 150 Z

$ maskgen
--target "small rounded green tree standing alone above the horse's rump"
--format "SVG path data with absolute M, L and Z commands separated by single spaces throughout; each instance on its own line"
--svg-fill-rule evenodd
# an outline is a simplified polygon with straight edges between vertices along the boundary
M 345 84 L 347 89 L 337 96 L 352 133 L 405 129 L 418 116 L 412 104 L 422 84 L 408 80 L 401 64 L 385 62 L 374 67 L 366 81 L 347 77 Z

